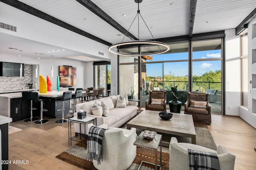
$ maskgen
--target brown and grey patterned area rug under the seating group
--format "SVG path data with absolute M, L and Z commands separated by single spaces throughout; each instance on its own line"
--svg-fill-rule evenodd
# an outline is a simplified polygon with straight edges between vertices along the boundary
M 214 143 L 210 130 L 208 128 L 195 127 L 196 130 L 196 144 L 207 147 L 209 149 L 216 150 L 217 147 Z M 138 132 L 137 132 L 138 133 Z M 188 137 L 178 137 L 174 136 L 178 139 L 178 142 L 191 143 L 191 138 Z M 170 142 L 171 136 L 163 136 L 163 140 Z M 166 150 L 166 149 L 165 149 Z M 167 148 L 168 150 L 168 148 Z M 160 152 L 158 152 L 158 156 L 160 156 Z M 84 149 L 84 144 L 78 143 L 61 154 L 57 155 L 56 158 L 59 158 L 65 162 L 78 166 L 85 170 L 96 170 L 91 161 L 87 160 L 87 150 Z M 155 153 L 153 150 L 148 150 L 145 148 L 137 147 L 137 155 L 133 162 L 133 164 L 128 168 L 128 170 L 137 170 L 140 162 L 142 160 L 146 162 L 155 162 Z M 162 152 L 162 170 L 169 169 L 169 153 Z M 160 157 L 158 158 L 160 159 Z M 160 160 L 158 160 L 158 164 L 160 164 Z M 141 170 L 151 170 L 154 169 L 154 166 L 150 164 L 142 164 Z

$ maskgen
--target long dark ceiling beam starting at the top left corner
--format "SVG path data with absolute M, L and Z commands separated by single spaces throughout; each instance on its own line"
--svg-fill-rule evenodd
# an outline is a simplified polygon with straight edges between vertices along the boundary
M 112 43 L 109 43 L 109 42 L 107 42 L 103 39 L 100 39 L 100 38 L 90 34 L 90 33 L 87 33 L 87 32 L 85 32 L 81 29 L 78 29 L 77 27 L 74 27 L 74 26 L 72 26 L 72 25 L 70 25 L 70 24 L 68 24 L 64 21 L 58 20 L 57 18 L 54 18 L 54 17 L 52 17 L 52 16 L 50 16 L 50 15 L 48 15 L 48 14 L 46 14 L 46 13 L 40 11 L 40 10 L 37 10 L 36 8 L 33 8 L 33 7 L 31 7 L 27 4 L 24 4 L 24 3 L 22 3 L 18 0 L 0 0 L 0 2 L 8 4 L 8 5 L 10 5 L 14 8 L 17 8 L 19 10 L 27 12 L 28 14 L 31 14 L 31 15 L 36 16 L 38 18 L 41 18 L 43 20 L 46 20 L 46 21 L 49 21 L 49 22 L 54 23 L 56 25 L 59 25 L 60 27 L 66 28 L 70 31 L 73 31 L 75 33 L 83 35 L 84 37 L 90 38 L 90 39 L 92 39 L 94 41 L 97 41 L 99 43 L 102 43 L 102 44 L 105 44 L 105 45 L 108 45 L 108 46 L 112 45 Z

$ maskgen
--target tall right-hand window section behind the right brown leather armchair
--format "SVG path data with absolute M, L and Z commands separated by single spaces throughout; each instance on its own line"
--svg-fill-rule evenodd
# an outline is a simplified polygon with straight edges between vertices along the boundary
M 222 113 L 222 39 L 192 41 L 192 91 L 210 92 L 212 113 Z

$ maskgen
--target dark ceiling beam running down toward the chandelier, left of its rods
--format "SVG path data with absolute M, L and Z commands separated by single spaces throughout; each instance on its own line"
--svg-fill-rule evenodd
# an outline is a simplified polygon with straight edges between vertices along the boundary
M 102 20 L 109 23 L 112 27 L 126 35 L 131 40 L 138 40 L 134 35 L 132 35 L 130 32 L 128 32 L 124 27 L 122 27 L 118 22 L 116 22 L 113 18 L 111 18 L 106 12 L 104 12 L 102 9 L 100 9 L 98 6 L 96 6 L 92 1 L 90 0 L 76 0 L 80 4 L 82 4 L 84 7 L 86 7 L 88 10 L 96 14 L 98 17 L 100 17 Z

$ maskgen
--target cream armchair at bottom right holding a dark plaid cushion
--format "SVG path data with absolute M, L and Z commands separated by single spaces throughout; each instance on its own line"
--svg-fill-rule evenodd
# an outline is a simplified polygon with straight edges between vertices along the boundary
M 218 156 L 221 170 L 234 170 L 236 156 L 227 152 L 225 147 L 218 146 L 217 151 L 191 143 L 178 143 L 176 137 L 170 141 L 170 168 L 169 170 L 189 170 L 188 149 L 201 152 L 211 152 Z

